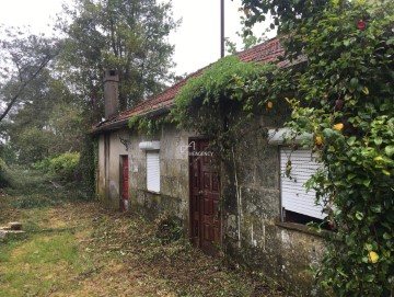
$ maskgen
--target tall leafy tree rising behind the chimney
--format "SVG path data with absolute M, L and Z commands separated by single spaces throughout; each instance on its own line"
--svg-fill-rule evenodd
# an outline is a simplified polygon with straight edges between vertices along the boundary
M 171 3 L 76 0 L 65 13 L 58 22 L 66 34 L 59 66 L 85 108 L 93 111 L 91 121 L 102 115 L 104 69 L 119 72 L 120 108 L 158 93 L 171 78 L 173 46 L 165 37 L 177 26 Z

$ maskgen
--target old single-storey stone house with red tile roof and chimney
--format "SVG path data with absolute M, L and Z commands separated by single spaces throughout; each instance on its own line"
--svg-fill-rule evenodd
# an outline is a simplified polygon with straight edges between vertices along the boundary
M 237 56 L 242 61 L 278 62 L 282 53 L 274 38 Z M 149 136 L 128 128 L 135 115 L 169 114 L 179 89 L 201 71 L 121 113 L 117 113 L 117 73 L 106 72 L 107 119 L 93 130 L 99 139 L 97 195 L 112 207 L 151 217 L 171 213 L 183 221 L 195 247 L 210 254 L 220 249 L 298 295 L 313 295 L 309 269 L 320 262 L 324 242 L 305 222 L 322 219 L 323 214 L 304 183 L 317 164 L 311 151 L 298 150 L 291 155 L 292 179 L 283 175 L 290 150 L 281 146 L 282 121 L 251 121 L 234 163 L 220 169 L 211 165 L 215 156 L 201 135 L 165 122 Z

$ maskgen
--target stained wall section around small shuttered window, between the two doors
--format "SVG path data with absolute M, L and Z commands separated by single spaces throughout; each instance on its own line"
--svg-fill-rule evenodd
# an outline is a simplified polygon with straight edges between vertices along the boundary
M 154 218 L 162 212 L 177 216 L 188 229 L 188 139 L 192 135 L 164 124 L 152 137 L 134 134 L 130 149 L 131 208 Z M 147 157 L 139 144 L 160 141 L 160 193 L 147 190 Z M 184 149 L 183 149 L 184 148 Z M 186 149 L 185 149 L 186 148 Z

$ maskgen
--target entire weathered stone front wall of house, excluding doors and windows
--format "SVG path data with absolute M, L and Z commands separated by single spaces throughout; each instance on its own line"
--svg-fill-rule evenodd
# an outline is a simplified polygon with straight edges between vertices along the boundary
M 310 265 L 322 259 L 322 237 L 305 226 L 280 221 L 279 148 L 267 141 L 268 128 L 280 126 L 278 119 L 248 121 L 240 128 L 231 158 L 222 162 L 223 250 L 233 260 L 288 286 L 296 296 L 321 296 L 314 289 Z M 105 137 L 100 137 L 99 193 L 106 193 L 109 204 L 118 206 L 119 158 L 127 153 L 130 209 L 152 219 L 163 212 L 175 215 L 188 235 L 188 151 L 182 147 L 187 147 L 195 135 L 171 124 L 164 124 L 152 137 L 126 130 L 120 134 L 129 135 L 129 149 L 126 151 L 120 144 L 119 133 L 111 133 L 107 163 L 103 157 Z M 147 140 L 160 141 L 160 193 L 147 190 L 147 157 L 139 148 Z

